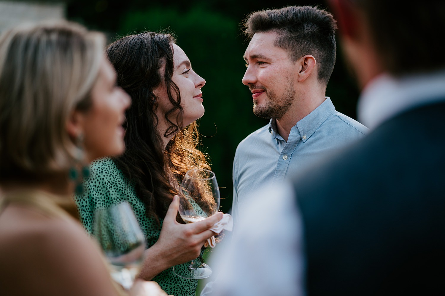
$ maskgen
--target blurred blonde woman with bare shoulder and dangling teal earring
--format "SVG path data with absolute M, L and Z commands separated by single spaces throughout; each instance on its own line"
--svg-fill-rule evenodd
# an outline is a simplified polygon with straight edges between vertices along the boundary
M 66 22 L 0 37 L 2 295 L 125 295 L 68 214 L 76 213 L 69 173 L 124 151 L 130 98 L 103 48 L 100 33 Z M 138 280 L 129 295 L 166 294 Z

